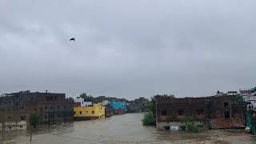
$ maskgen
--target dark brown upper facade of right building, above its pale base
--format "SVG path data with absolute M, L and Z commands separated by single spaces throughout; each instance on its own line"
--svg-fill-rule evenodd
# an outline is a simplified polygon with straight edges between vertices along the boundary
M 225 123 L 225 119 L 232 118 L 238 118 L 239 122 L 242 122 L 244 117 L 242 102 L 235 95 L 223 94 L 204 98 L 155 97 L 154 99 L 157 123 L 179 122 L 184 117 L 194 117 L 198 122 L 222 119 L 220 121 Z

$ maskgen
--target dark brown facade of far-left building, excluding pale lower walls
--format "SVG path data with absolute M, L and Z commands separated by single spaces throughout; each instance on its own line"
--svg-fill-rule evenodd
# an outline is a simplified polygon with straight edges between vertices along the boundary
M 11 110 L 37 111 L 40 115 L 40 122 L 66 122 L 73 119 L 74 100 L 66 98 L 65 94 L 56 93 L 30 93 L 30 91 L 21 91 L 18 93 L 5 94 L 0 97 L 0 109 Z M 29 121 L 28 115 L 26 121 Z M 5 117 L 0 115 L 0 117 Z M 1 118 L 0 118 L 1 119 Z

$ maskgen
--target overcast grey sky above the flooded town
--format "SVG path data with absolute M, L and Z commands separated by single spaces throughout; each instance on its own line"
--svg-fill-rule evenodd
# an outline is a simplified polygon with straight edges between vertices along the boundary
M 253 0 L 1 0 L 0 93 L 134 99 L 254 86 L 255 6 Z

